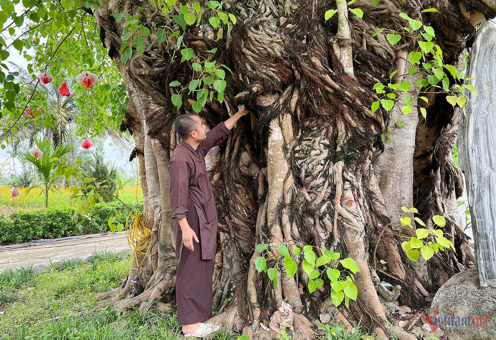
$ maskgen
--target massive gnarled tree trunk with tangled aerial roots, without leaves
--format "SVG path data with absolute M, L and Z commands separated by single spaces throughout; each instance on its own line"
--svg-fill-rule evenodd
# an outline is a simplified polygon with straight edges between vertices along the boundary
M 207 8 L 206 1 L 198 2 L 202 10 Z M 473 253 L 453 209 L 462 188 L 461 173 L 450 159 L 460 112 L 445 94 L 422 93 L 429 98 L 429 104 L 418 103 L 427 109 L 426 120 L 417 103 L 407 116 L 398 104 L 389 113 L 372 113 L 377 100 L 372 85 L 387 84 L 393 70 L 398 69 L 394 83 L 409 81 L 411 92 L 423 91 L 415 85 L 415 77 L 422 75 L 406 72 L 413 38 L 405 35 L 391 46 L 385 32 L 373 35 L 383 27 L 407 25 L 398 16 L 401 12 L 418 18 L 422 9 L 434 7 L 439 12 L 423 13 L 421 20 L 434 27 L 444 61 L 461 68 L 458 57 L 474 25 L 496 15 L 494 3 L 485 2 L 380 0 L 373 6 L 370 0 L 357 0 L 352 7 L 364 11 L 361 20 L 348 15 L 346 1 L 226 0 L 222 10 L 236 16 L 235 26 L 212 27 L 207 10 L 201 25 L 186 27 L 187 47 L 232 70 L 227 72 L 224 102 L 207 100 L 199 115 L 213 127 L 239 104 L 251 112 L 226 143 L 207 155 L 219 215 L 213 285 L 217 319 L 230 329 L 270 338 L 258 325 L 285 300 L 296 313 L 293 339 L 311 337 L 306 323 L 316 322 L 328 304 L 329 285 L 310 294 L 300 263 L 296 277 L 288 278 L 279 261 L 273 288 L 254 268 L 257 243 L 268 243 L 270 249 L 280 243 L 289 248 L 312 245 L 355 259 L 358 299 L 340 310 L 349 320 L 363 318 L 362 325 L 381 335 L 390 317 L 376 292 L 381 280 L 401 284 L 400 303 L 421 308 L 426 296 L 471 265 Z M 183 107 L 177 110 L 171 102 L 177 88 L 169 83 L 178 80 L 187 86 L 197 74 L 181 62 L 178 37 L 158 44 L 157 31 L 183 33 L 172 20 L 183 4 L 178 1 L 165 13 L 148 0 L 107 0 L 92 9 L 129 94 L 123 127 L 135 137 L 133 153 L 153 237 L 144 263 L 138 266 L 133 260 L 128 276 L 138 276 L 145 291 L 131 298 L 128 280 L 119 292 L 124 300 L 116 302 L 121 308 L 174 303 L 177 262 L 167 165 L 179 141 L 173 122 L 192 112 L 195 100 L 183 93 Z M 324 13 L 332 8 L 338 13 L 326 21 Z M 121 22 L 118 13 L 124 14 Z M 119 51 L 127 15 L 138 15 L 151 33 L 144 53 L 133 49 L 123 64 Z M 206 52 L 213 48 L 215 54 Z M 396 120 L 405 125 L 395 127 Z M 383 142 L 388 126 L 391 141 Z M 389 225 L 402 214 L 402 206 L 417 207 L 416 216 L 426 222 L 445 215 L 457 252 L 436 254 L 428 263 L 410 261 L 399 246 L 399 229 Z

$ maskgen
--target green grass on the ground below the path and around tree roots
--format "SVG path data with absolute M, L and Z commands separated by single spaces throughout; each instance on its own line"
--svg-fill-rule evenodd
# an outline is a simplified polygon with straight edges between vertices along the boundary
M 177 314 L 155 307 L 94 310 L 95 293 L 122 283 L 129 255 L 102 251 L 85 263 L 66 260 L 43 274 L 32 269 L 0 273 L 1 340 L 179 340 Z M 222 327 L 210 340 L 237 340 Z M 282 338 L 281 338 L 282 339 Z M 289 338 L 288 338 L 289 339 Z M 324 339 L 324 338 L 320 338 Z M 335 339 L 371 340 L 355 332 Z

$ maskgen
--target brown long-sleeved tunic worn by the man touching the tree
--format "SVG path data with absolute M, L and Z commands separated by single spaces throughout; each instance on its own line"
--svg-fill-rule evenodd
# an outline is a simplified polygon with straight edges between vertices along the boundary
M 201 258 L 213 259 L 217 247 L 217 209 L 212 186 L 205 166 L 205 155 L 231 135 L 224 122 L 207 132 L 196 150 L 185 141 L 174 149 L 169 162 L 169 199 L 176 235 L 176 258 L 181 260 L 183 232 L 178 220 L 187 218 L 188 224 L 199 223 Z M 195 209 L 198 221 L 190 221 L 188 211 Z M 193 245 L 196 242 L 193 240 Z

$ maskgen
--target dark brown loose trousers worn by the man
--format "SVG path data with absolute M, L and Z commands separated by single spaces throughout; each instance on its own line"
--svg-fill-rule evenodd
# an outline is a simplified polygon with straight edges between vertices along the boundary
M 201 259 L 200 226 L 196 209 L 188 210 L 187 222 L 198 237 L 193 239 L 193 251 L 183 245 L 176 279 L 178 323 L 191 325 L 212 317 L 213 260 Z

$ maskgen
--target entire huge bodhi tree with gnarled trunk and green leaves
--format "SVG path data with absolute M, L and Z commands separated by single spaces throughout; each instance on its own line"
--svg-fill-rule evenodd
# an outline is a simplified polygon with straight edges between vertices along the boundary
M 494 1 L 22 4 L 0 0 L 1 58 L 12 45 L 33 61 L 29 71 L 50 72 L 59 83 L 86 69 L 98 73 L 91 95 L 74 88 L 88 112 L 76 117 L 79 129 L 91 135 L 121 124 L 134 137 L 152 245 L 133 260 L 112 304 L 174 302 L 173 123 L 196 112 L 213 127 L 240 104 L 250 115 L 207 156 L 219 215 L 213 309 L 229 329 L 269 339 L 259 325 L 284 300 L 295 312 L 293 339 L 310 339 L 308 325 L 332 301 L 385 336 L 390 315 L 377 295 L 380 281 L 403 287 L 401 304 L 423 308 L 473 265 L 450 151 L 466 91 L 475 90 L 461 77 L 465 51 L 476 25 L 496 16 Z M 36 75 L 35 91 L 27 91 L 2 66 L 5 145 L 33 123 L 24 110 L 44 100 Z M 338 262 L 345 258 L 353 262 Z M 339 289 L 333 282 L 345 269 L 353 284 Z M 145 290 L 130 297 L 135 276 Z

